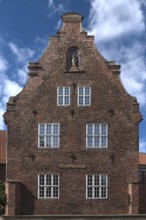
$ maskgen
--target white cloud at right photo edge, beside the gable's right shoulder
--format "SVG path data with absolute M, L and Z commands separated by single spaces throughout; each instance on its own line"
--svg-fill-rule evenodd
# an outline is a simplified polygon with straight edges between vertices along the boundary
M 146 104 L 144 47 L 140 43 L 137 44 L 135 42 L 135 45 L 123 50 L 125 57 L 124 60 L 121 57 L 121 79 L 126 90 L 136 96 L 141 106 L 144 106 Z

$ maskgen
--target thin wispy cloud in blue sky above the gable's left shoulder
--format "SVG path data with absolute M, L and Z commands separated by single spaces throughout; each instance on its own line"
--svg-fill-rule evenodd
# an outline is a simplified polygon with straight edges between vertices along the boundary
M 13 42 L 9 42 L 8 46 L 12 53 L 15 55 L 18 62 L 25 63 L 35 54 L 34 50 L 31 50 L 30 48 L 19 48 Z

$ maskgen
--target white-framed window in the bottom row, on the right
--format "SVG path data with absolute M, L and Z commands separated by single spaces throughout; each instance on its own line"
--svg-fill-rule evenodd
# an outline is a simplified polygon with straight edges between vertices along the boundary
M 107 199 L 108 198 L 108 175 L 88 174 L 86 175 L 86 198 Z

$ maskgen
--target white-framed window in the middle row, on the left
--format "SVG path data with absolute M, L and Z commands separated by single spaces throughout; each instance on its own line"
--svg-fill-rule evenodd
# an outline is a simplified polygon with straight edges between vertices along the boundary
M 38 147 L 58 148 L 60 142 L 60 124 L 38 124 Z

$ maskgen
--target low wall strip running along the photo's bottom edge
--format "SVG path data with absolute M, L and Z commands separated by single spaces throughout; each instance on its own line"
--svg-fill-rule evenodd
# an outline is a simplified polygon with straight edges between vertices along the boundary
M 0 220 L 146 220 L 146 215 L 2 216 Z

